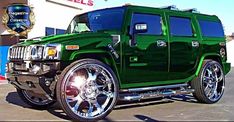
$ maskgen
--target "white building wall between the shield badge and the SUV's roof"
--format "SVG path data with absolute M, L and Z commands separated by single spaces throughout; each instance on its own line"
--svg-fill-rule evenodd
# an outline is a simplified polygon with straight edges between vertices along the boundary
M 45 36 L 45 27 L 67 29 L 75 15 L 93 8 L 67 0 L 29 0 L 28 4 L 34 8 L 36 18 L 33 29 L 28 33 L 28 38 Z

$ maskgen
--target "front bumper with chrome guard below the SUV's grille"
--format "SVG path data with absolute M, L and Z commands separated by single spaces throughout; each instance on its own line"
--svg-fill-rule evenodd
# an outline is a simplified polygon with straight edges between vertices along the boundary
M 18 89 L 53 96 L 55 76 L 60 71 L 59 62 L 9 62 L 5 75 L 8 82 Z M 28 67 L 29 65 L 29 67 Z M 35 68 L 37 69 L 35 72 Z

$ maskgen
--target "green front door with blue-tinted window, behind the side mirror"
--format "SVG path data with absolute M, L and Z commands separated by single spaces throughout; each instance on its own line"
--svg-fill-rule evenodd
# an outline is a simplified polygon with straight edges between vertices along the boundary
M 168 40 L 163 30 L 163 14 L 133 13 L 129 38 L 123 45 L 124 81 L 154 85 L 168 77 Z M 134 33 L 136 25 L 144 25 L 147 31 Z M 131 40 L 135 44 L 131 44 Z M 142 85 L 139 85 L 142 86 Z

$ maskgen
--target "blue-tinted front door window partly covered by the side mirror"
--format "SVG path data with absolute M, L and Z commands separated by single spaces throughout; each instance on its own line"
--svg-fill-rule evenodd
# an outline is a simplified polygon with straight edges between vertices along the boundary
M 134 25 L 137 23 L 147 24 L 148 31 L 142 34 L 148 35 L 162 35 L 161 16 L 150 14 L 133 14 L 130 34 L 132 35 Z

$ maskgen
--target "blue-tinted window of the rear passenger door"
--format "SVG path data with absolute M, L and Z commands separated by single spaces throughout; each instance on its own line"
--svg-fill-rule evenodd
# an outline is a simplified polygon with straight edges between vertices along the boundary
M 191 19 L 170 17 L 170 32 L 172 36 L 193 36 Z

